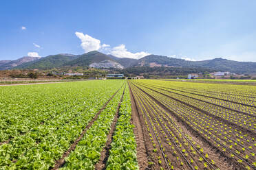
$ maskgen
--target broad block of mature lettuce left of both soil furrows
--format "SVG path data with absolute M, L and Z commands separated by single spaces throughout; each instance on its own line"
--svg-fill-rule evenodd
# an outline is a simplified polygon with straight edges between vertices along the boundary
M 0 169 L 53 167 L 122 84 L 107 80 L 0 87 L 0 142 L 10 139 L 0 145 Z M 101 140 L 96 139 L 95 145 Z M 98 152 L 88 155 L 94 158 Z

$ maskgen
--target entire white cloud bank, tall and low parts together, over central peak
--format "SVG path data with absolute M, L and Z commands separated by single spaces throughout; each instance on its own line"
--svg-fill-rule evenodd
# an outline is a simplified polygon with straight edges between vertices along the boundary
M 100 40 L 96 38 L 92 38 L 92 36 L 89 36 L 87 34 L 83 34 L 83 32 L 76 32 L 76 36 L 81 40 L 81 47 L 85 51 L 85 53 L 89 51 L 99 50 L 99 51 L 105 51 L 113 56 L 116 56 L 118 58 L 142 58 L 145 56 L 148 56 L 150 53 L 141 51 L 137 53 L 131 53 L 127 51 L 125 48 L 125 45 L 119 45 L 114 48 L 110 48 L 110 45 L 107 44 L 100 44 Z

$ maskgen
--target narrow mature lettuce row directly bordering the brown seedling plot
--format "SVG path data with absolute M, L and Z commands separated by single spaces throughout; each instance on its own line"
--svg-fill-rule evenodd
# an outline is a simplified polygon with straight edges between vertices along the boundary
M 134 125 L 130 121 L 131 98 L 129 89 L 126 88 L 119 110 L 116 131 L 111 143 L 110 156 L 107 160 L 107 169 L 139 169 L 136 158 Z

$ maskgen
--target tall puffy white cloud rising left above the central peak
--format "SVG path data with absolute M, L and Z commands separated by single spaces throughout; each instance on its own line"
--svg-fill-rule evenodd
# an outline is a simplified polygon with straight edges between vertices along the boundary
M 76 32 L 75 34 L 81 40 L 81 47 L 85 50 L 85 53 L 100 49 L 100 40 L 92 38 L 92 36 L 87 34 L 83 34 L 83 32 Z

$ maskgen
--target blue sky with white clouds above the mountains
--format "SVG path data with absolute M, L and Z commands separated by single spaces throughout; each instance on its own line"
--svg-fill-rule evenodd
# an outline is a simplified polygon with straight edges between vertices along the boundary
M 97 49 L 130 58 L 256 62 L 255 9 L 254 0 L 4 0 L 0 60 Z

